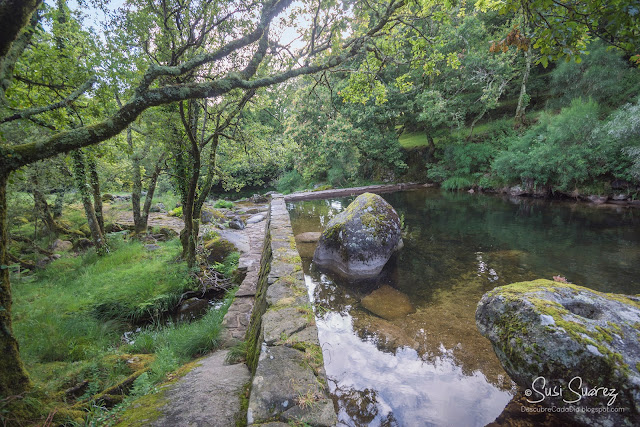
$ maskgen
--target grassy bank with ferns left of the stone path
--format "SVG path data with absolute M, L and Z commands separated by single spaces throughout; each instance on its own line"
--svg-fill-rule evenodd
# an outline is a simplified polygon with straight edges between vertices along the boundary
M 67 254 L 12 279 L 14 331 L 34 388 L 12 399 L 14 406 L 0 401 L 0 422 L 40 424 L 53 417 L 102 425 L 109 409 L 127 404 L 127 393 L 146 394 L 216 347 L 233 293 L 198 320 L 167 320 L 194 282 L 186 264 L 176 261 L 179 240 L 158 246 L 149 251 L 118 236 L 106 256 Z

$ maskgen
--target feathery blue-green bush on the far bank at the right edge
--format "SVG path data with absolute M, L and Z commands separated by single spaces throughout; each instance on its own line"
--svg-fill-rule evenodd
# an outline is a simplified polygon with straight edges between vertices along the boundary
M 522 181 L 562 191 L 598 179 L 630 178 L 629 144 L 637 144 L 637 106 L 626 106 L 608 121 L 600 120 L 599 104 L 575 99 L 556 116 L 513 138 L 493 168 L 506 181 Z M 627 138 L 622 137 L 627 135 Z M 627 150 L 628 152 L 628 150 Z

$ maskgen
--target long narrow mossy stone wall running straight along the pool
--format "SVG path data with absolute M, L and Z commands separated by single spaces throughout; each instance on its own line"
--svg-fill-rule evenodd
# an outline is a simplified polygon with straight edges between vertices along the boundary
M 271 201 L 254 309 L 247 330 L 253 373 L 248 424 L 333 426 L 322 349 L 283 196 Z M 286 425 L 286 424 L 282 424 Z

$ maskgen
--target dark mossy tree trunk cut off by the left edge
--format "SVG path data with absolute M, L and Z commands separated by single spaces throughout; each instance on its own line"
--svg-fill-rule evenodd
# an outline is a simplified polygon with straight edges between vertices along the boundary
M 24 369 L 18 341 L 11 325 L 11 283 L 7 257 L 7 178 L 0 174 L 0 398 L 16 396 L 31 387 L 31 381 Z

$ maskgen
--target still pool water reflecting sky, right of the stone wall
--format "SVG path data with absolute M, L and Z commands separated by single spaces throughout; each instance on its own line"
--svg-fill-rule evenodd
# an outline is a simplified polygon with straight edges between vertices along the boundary
M 298 244 L 344 425 L 482 426 L 500 415 L 515 387 L 475 326 L 477 302 L 495 286 L 561 275 L 640 292 L 640 210 L 433 189 L 383 197 L 403 219 L 405 245 L 376 283 L 324 274 L 314 246 Z M 351 200 L 290 203 L 294 234 L 321 231 Z M 383 319 L 365 309 L 383 285 L 415 312 Z

